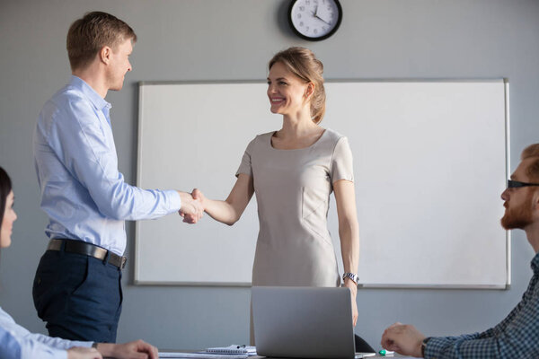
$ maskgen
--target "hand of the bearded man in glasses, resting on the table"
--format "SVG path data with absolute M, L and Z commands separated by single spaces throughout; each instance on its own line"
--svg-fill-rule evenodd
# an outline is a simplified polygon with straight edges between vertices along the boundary
M 425 336 L 418 329 L 409 324 L 394 323 L 384 330 L 382 347 L 392 350 L 400 355 L 422 357 L 421 343 Z

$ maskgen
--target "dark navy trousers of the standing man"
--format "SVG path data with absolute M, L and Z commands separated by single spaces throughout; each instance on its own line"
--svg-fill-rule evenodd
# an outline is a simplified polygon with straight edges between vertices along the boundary
M 63 250 L 41 257 L 33 283 L 38 316 L 50 337 L 116 342 L 121 270 L 105 260 Z

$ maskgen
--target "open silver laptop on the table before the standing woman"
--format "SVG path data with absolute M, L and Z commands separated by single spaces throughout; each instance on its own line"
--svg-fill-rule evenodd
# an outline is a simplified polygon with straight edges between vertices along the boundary
M 258 355 L 328 359 L 370 356 L 355 353 L 348 288 L 254 286 L 251 298 Z

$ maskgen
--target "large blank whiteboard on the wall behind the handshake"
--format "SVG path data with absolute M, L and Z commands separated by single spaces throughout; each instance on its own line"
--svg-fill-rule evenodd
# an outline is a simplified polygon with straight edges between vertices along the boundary
M 508 82 L 326 83 L 322 126 L 354 153 L 364 286 L 505 288 Z M 140 83 L 137 185 L 225 199 L 246 145 L 277 130 L 262 82 Z M 333 197 L 330 232 L 340 260 Z M 140 221 L 138 285 L 251 285 L 256 199 L 234 226 Z

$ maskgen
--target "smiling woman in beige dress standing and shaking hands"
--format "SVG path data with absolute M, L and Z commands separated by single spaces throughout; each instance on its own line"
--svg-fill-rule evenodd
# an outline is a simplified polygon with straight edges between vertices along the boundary
M 282 128 L 247 146 L 225 201 L 208 199 L 198 189 L 193 197 L 216 221 L 232 225 L 256 193 L 260 232 L 252 285 L 338 286 L 327 227 L 334 192 L 344 285 L 356 325 L 359 233 L 352 154 L 346 137 L 319 125 L 325 111 L 323 64 L 307 48 L 287 48 L 270 60 L 269 70 L 270 110 L 282 115 Z

